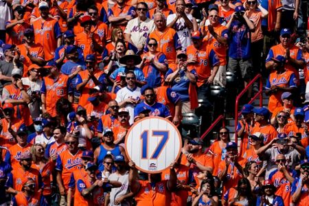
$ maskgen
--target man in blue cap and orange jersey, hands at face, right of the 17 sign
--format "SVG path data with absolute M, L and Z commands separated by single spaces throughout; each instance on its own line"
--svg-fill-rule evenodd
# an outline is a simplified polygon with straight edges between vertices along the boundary
M 223 191 L 225 194 L 231 187 L 236 187 L 238 180 L 244 176 L 242 167 L 246 163 L 246 159 L 238 157 L 237 144 L 230 141 L 226 148 L 227 157 L 225 160 L 220 161 L 218 169 L 218 178 L 222 181 Z

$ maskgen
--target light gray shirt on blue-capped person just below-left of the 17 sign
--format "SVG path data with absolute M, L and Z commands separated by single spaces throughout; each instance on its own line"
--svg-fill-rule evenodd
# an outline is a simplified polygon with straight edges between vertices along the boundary
M 112 190 L 111 190 L 109 205 L 115 206 L 115 204 L 114 204 L 115 199 L 119 198 L 119 196 L 123 196 L 123 195 L 128 194 L 130 192 L 130 190 L 128 189 L 128 171 L 124 175 L 113 173 L 113 174 L 111 174 L 111 176 L 108 177 L 108 180 L 119 181 L 120 183 L 122 183 L 121 187 L 112 188 Z M 122 206 L 130 206 L 131 205 L 130 200 L 122 201 L 121 205 Z

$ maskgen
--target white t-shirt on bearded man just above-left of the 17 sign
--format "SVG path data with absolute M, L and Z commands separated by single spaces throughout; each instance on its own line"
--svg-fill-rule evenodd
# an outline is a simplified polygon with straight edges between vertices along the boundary
M 139 98 L 141 97 L 141 88 L 139 87 L 135 87 L 135 89 L 128 89 L 128 87 L 124 87 L 122 89 L 120 89 L 119 91 L 117 91 L 117 96 L 116 96 L 116 102 L 118 102 L 118 104 L 120 102 L 123 102 L 124 100 L 128 99 L 128 98 L 133 98 L 135 100 L 139 100 Z M 126 109 L 128 109 L 129 111 L 129 115 L 130 115 L 130 124 L 134 123 L 134 108 L 135 105 L 134 104 L 126 104 Z

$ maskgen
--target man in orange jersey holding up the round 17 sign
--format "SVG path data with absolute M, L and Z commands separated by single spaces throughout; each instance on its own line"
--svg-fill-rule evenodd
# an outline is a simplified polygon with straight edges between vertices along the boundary
M 129 161 L 129 185 L 135 195 L 137 206 L 144 205 L 170 205 L 171 192 L 175 190 L 177 176 L 174 169 L 175 162 L 170 164 L 170 179 L 162 180 L 161 173 L 148 174 L 148 181 L 139 181 L 135 163 Z

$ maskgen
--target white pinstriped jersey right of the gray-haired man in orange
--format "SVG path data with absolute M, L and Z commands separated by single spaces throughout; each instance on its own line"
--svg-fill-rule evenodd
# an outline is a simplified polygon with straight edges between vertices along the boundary
M 186 14 L 187 19 L 192 22 L 193 16 L 191 14 Z M 167 25 L 171 23 L 176 18 L 176 14 L 168 15 L 168 19 L 166 20 Z M 176 30 L 179 40 L 181 41 L 181 47 L 183 50 L 187 49 L 187 46 L 191 45 L 191 33 L 192 30 L 189 30 L 188 27 L 185 26 L 185 20 L 181 17 L 176 21 L 173 27 Z

